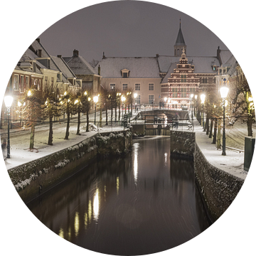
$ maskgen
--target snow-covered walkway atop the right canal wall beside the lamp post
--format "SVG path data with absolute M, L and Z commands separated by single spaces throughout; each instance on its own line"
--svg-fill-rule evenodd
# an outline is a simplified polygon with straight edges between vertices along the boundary
M 223 150 L 216 149 L 216 145 L 212 144 L 213 139 L 209 139 L 206 132 L 203 132 L 203 127 L 196 119 L 194 119 L 194 132 L 196 132 L 196 143 L 210 164 L 239 178 L 247 178 L 248 172 L 243 169 L 245 153 L 226 148 L 226 156 L 223 156 Z

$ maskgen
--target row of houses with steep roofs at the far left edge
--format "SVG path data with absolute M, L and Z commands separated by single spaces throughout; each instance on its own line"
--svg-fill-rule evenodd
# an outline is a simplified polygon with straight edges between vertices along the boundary
M 6 86 L 5 95 L 14 97 L 10 115 L 11 128 L 22 125 L 19 113 L 23 106 L 18 105 L 18 100 L 28 90 L 45 90 L 47 86 L 56 86 L 60 91 L 68 88 L 81 90 L 82 80 L 75 76 L 61 55 L 49 55 L 37 38 L 21 55 Z M 2 105 L 0 129 L 6 129 L 6 120 L 6 107 Z

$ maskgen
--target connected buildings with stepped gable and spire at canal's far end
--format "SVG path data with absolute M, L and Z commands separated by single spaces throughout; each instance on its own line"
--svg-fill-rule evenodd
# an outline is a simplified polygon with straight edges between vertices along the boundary
M 165 103 L 181 109 L 189 106 L 191 93 L 216 86 L 218 68 L 231 56 L 230 50 L 220 48 L 216 56 L 188 56 L 180 22 L 174 55 L 119 58 L 103 54 L 96 68 L 100 66 L 104 87 L 136 92 L 135 102 L 139 105 Z

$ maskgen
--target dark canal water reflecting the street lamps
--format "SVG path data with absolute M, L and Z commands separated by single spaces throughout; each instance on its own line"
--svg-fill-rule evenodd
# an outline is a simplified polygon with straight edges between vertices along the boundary
M 210 227 L 193 161 L 170 158 L 168 137 L 134 140 L 124 159 L 95 161 L 27 207 L 60 239 L 106 255 L 163 252 Z

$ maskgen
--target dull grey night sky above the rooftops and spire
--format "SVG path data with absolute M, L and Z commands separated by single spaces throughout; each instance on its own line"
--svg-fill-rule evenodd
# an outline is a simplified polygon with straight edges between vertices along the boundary
M 88 62 L 106 57 L 174 55 L 179 20 L 188 56 L 216 56 L 228 46 L 200 21 L 163 4 L 116 0 L 74 11 L 49 26 L 38 38 L 50 55 L 79 50 Z

